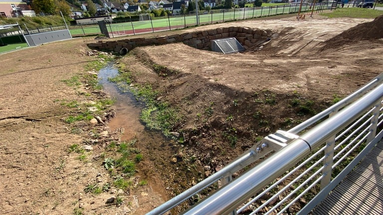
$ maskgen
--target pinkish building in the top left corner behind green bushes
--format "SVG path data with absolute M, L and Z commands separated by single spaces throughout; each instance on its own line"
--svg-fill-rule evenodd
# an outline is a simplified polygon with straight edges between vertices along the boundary
M 0 0 L 1 17 L 17 17 L 22 15 L 22 10 L 30 10 L 30 7 L 22 0 Z

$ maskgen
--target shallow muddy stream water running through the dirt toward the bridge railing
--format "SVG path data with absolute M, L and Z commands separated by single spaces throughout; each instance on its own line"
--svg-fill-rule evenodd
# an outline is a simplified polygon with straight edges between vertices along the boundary
M 148 180 L 154 192 L 158 193 L 165 201 L 168 199 L 168 195 L 163 180 L 158 180 L 157 176 L 160 173 L 157 171 L 158 166 L 170 163 L 172 153 L 176 153 L 177 149 L 174 148 L 174 141 L 165 138 L 159 131 L 145 128 L 145 125 L 140 121 L 140 113 L 145 108 L 145 104 L 137 101 L 130 91 L 123 92 L 115 83 L 108 80 L 108 78 L 117 75 L 118 70 L 113 66 L 113 62 L 107 64 L 98 73 L 98 80 L 103 85 L 104 92 L 116 100 L 114 104 L 116 115 L 108 125 L 112 131 L 120 127 L 125 129 L 120 136 L 121 140 L 138 139 L 135 147 L 141 149 L 141 153 L 144 155 L 144 160 L 138 165 L 140 168 L 138 175 L 142 179 Z M 173 167 L 170 165 L 168 168 L 164 169 L 171 171 Z

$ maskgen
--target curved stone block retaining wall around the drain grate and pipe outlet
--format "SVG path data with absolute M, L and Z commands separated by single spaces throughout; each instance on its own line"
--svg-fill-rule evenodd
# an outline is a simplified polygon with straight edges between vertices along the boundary
M 211 40 L 235 37 L 245 49 L 248 49 L 262 44 L 271 36 L 272 32 L 260 29 L 251 29 L 246 27 L 221 27 L 167 36 L 127 38 L 116 41 L 98 41 L 96 43 L 88 43 L 88 47 L 126 54 L 126 52 L 138 46 L 183 42 L 186 45 L 197 49 L 210 50 Z

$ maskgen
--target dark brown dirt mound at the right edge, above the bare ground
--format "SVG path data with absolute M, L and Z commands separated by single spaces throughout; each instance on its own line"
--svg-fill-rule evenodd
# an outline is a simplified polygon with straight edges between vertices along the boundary
M 349 30 L 327 40 L 321 51 L 334 47 L 357 42 L 360 40 L 376 40 L 383 38 L 383 15 L 378 16 L 371 22 L 358 24 Z

